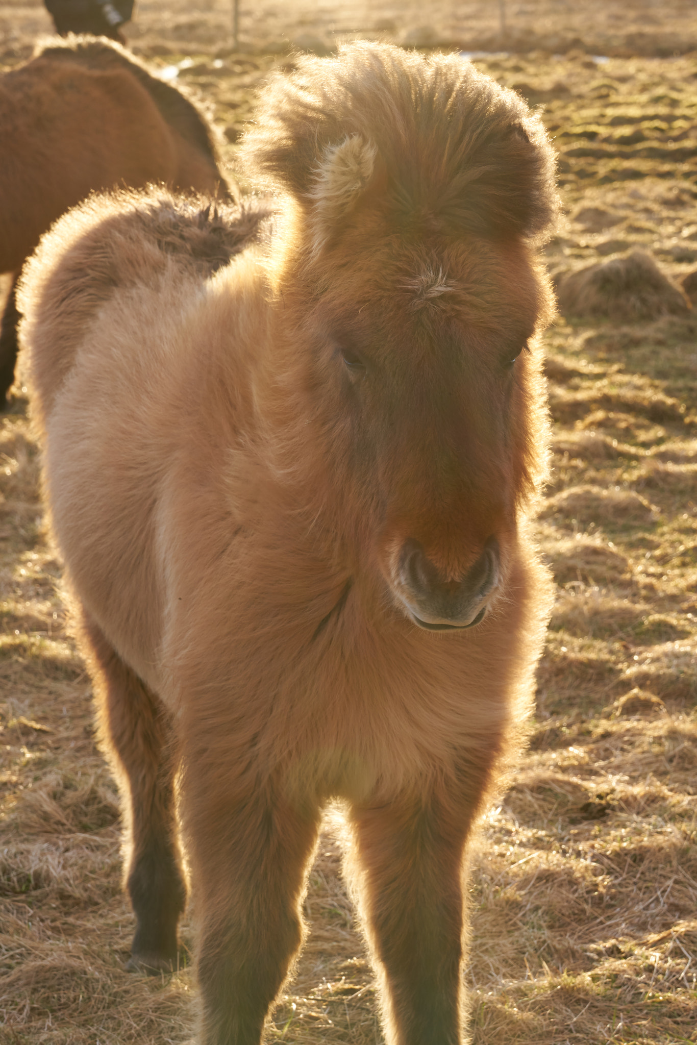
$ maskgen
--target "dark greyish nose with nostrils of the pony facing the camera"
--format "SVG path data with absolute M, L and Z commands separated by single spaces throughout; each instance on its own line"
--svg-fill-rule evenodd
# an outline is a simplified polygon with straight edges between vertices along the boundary
M 498 542 L 490 537 L 462 580 L 444 581 L 423 544 L 410 537 L 399 555 L 402 601 L 415 624 L 431 631 L 469 628 L 484 620 L 490 596 L 498 586 Z

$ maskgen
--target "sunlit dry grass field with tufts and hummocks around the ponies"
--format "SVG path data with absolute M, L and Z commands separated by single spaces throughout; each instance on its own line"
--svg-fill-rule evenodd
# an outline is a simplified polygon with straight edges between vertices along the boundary
M 439 39 L 494 39 L 493 3 L 433 10 Z M 231 172 L 254 92 L 292 64 L 279 41 L 423 28 L 423 5 L 409 3 L 262 2 L 242 15 L 245 51 L 229 46 L 229 7 L 213 0 L 195 15 L 143 0 L 129 30 L 211 107 Z M 475 61 L 544 107 L 560 152 L 564 217 L 547 250 L 561 302 L 545 338 L 554 459 L 538 524 L 558 591 L 530 750 L 473 860 L 472 1041 L 694 1043 L 697 43 L 689 53 L 684 42 L 697 40 L 697 8 L 530 0 L 508 17 L 516 46 L 527 32 L 537 50 Z M 26 56 L 47 27 L 37 4 L 5 4 L 0 63 Z M 0 1045 L 175 1045 L 194 1025 L 192 912 L 176 975 L 124 972 L 133 924 L 116 793 L 16 392 L 0 422 Z M 311 934 L 269 1041 L 373 1045 L 336 811 L 327 828 L 305 904 Z

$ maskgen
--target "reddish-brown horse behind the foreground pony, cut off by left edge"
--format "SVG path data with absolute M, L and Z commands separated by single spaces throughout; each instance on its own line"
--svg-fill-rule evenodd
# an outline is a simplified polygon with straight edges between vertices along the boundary
M 16 281 L 42 233 L 97 189 L 164 182 L 230 199 L 210 129 L 117 44 L 52 40 L 0 77 L 0 410 L 17 357 Z

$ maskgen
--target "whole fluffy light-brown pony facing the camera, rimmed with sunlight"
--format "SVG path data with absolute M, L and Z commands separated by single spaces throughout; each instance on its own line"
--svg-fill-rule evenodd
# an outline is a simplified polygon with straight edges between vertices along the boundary
M 246 153 L 275 217 L 93 199 L 20 296 L 132 966 L 177 961 L 181 770 L 199 1041 L 258 1045 L 338 798 L 387 1040 L 455 1045 L 468 841 L 550 606 L 553 157 L 470 64 L 372 44 L 277 79 Z

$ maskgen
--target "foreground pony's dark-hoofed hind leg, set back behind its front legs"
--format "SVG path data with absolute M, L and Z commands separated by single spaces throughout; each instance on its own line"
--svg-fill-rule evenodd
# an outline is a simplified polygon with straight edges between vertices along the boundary
M 177 923 L 186 886 L 177 839 L 177 758 L 167 713 L 83 616 L 80 638 L 94 680 L 102 746 L 114 767 L 130 837 L 126 888 L 137 927 L 129 968 L 177 968 Z

